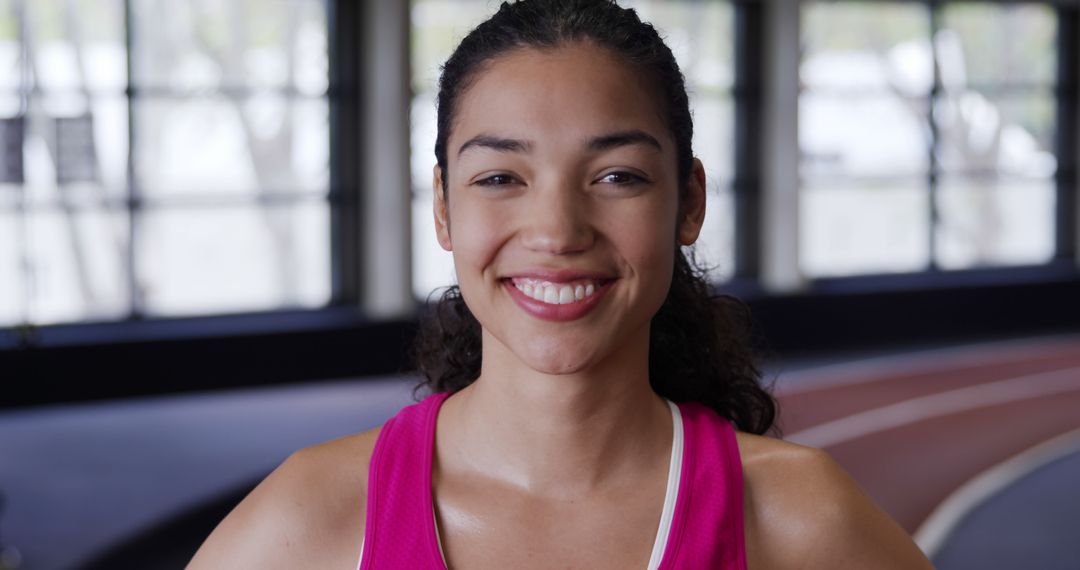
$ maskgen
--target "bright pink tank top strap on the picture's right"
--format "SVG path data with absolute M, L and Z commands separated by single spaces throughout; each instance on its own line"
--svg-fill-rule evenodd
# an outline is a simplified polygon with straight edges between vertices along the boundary
M 743 472 L 735 430 L 701 404 L 678 407 L 683 473 L 660 570 L 745 570 Z

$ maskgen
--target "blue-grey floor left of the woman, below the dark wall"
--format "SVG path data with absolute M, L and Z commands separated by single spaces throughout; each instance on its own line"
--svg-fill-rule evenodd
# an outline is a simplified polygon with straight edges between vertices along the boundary
M 23 569 L 77 567 L 298 448 L 382 423 L 411 386 L 383 378 L 0 412 L 0 540 Z

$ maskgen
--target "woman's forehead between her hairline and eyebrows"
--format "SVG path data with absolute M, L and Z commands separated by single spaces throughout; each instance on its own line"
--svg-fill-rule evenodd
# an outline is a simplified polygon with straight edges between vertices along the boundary
M 674 148 L 659 89 L 617 54 L 576 43 L 502 54 L 478 71 L 457 103 L 454 141 L 499 134 L 565 144 L 639 128 Z

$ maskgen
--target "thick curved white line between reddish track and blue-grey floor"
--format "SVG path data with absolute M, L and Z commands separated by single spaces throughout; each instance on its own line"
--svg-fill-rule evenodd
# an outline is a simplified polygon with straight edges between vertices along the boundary
M 1080 430 L 1058 435 L 984 471 L 934 508 L 915 531 L 915 542 L 933 558 L 978 505 L 1044 465 L 1076 452 L 1080 452 Z

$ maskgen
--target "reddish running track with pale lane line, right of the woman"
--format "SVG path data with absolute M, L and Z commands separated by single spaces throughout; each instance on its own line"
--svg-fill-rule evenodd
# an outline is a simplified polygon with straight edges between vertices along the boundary
M 1080 336 L 786 372 L 777 394 L 785 438 L 826 449 L 926 546 L 923 522 L 953 493 L 1080 429 Z

